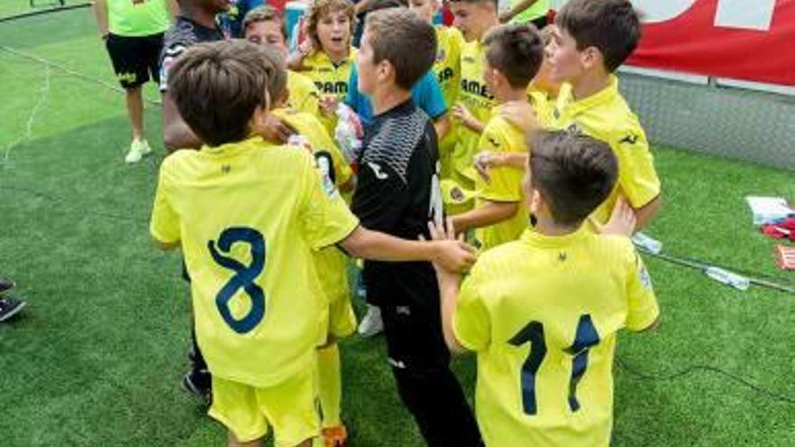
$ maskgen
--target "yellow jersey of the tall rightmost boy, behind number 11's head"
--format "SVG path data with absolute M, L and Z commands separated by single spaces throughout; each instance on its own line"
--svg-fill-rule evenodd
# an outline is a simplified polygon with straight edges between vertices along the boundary
M 564 85 L 555 113 L 555 128 L 583 132 L 602 140 L 610 144 L 618 158 L 618 182 L 607 200 L 594 211 L 597 221 L 604 223 L 610 218 L 620 195 L 627 198 L 632 208 L 641 208 L 659 196 L 659 178 L 646 133 L 619 93 L 618 78 L 612 76 L 608 88 L 579 101 L 572 97 L 571 86 Z

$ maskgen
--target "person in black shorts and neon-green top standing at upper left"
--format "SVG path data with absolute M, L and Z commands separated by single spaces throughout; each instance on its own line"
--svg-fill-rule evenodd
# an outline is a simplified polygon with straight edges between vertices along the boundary
M 152 152 L 144 136 L 142 86 L 158 82 L 163 33 L 171 25 L 175 0 L 95 0 L 99 33 L 105 40 L 113 70 L 126 90 L 133 141 L 126 163 L 137 163 Z

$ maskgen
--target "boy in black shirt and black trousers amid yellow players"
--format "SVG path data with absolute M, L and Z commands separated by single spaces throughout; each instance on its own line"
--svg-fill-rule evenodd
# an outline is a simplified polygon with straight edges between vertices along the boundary
M 351 208 L 362 225 L 397 236 L 428 237 L 443 219 L 433 122 L 411 100 L 411 86 L 436 54 L 433 27 L 402 8 L 371 13 L 357 55 L 361 92 L 375 117 L 367 129 Z M 365 262 L 370 303 L 381 308 L 397 391 L 432 447 L 481 445 L 472 411 L 449 368 L 430 263 Z

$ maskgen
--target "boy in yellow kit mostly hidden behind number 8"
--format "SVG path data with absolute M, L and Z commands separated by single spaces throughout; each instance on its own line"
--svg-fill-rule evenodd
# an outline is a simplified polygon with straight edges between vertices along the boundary
M 340 149 L 320 120 L 306 112 L 286 108 L 290 98 L 286 88 L 289 78 L 285 60 L 272 48 L 268 50 L 268 63 L 274 67 L 274 75 L 268 79 L 273 113 L 285 120 L 295 129 L 296 135 L 304 139 L 300 143 L 312 151 L 323 176 L 323 187 L 327 191 L 334 191 L 335 188 L 341 192 L 352 191 L 355 181 L 351 167 L 345 163 Z M 344 205 L 340 194 L 335 194 L 333 200 L 342 201 Z M 347 444 L 348 431 L 341 420 L 342 377 L 337 340 L 348 337 L 356 330 L 356 316 L 351 305 L 345 255 L 337 247 L 327 247 L 313 252 L 313 260 L 328 301 L 328 331 L 323 334 L 322 346 L 317 351 L 322 434 L 327 447 L 343 447 Z

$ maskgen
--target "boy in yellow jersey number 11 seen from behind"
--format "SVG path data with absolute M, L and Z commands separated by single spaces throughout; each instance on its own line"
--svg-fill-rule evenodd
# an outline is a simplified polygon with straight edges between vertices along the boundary
M 607 144 L 540 132 L 523 182 L 536 227 L 482 254 L 460 290 L 460 276 L 437 267 L 444 338 L 477 352 L 475 408 L 489 447 L 610 444 L 617 333 L 659 319 L 631 241 L 585 228 L 617 171 Z

